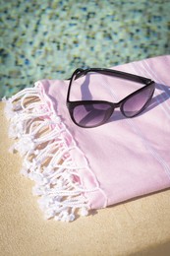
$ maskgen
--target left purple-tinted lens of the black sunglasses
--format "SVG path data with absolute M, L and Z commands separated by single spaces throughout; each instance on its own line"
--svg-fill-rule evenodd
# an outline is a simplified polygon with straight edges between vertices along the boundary
M 73 117 L 82 127 L 95 127 L 105 123 L 112 112 L 112 107 L 107 103 L 79 104 L 73 110 Z

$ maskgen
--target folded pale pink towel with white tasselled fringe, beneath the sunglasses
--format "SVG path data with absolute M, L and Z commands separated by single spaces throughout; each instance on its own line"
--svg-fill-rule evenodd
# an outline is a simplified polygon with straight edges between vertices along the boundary
M 6 100 L 13 150 L 47 219 L 73 221 L 170 187 L 170 55 L 117 66 L 156 83 L 149 106 L 134 118 L 119 109 L 103 125 L 82 128 L 69 114 L 69 81 L 42 80 Z M 120 101 L 137 83 L 103 74 L 78 79 L 72 100 Z

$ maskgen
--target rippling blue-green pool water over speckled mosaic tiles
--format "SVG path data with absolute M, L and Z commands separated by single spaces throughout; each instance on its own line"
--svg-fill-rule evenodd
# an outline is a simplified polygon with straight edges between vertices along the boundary
M 170 53 L 169 0 L 1 0 L 0 14 L 0 97 Z

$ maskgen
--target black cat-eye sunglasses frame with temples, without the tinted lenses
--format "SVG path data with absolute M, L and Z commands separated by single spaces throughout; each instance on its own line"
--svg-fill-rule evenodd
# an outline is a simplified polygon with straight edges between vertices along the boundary
M 73 80 L 77 80 L 77 79 L 85 76 L 89 72 L 100 73 L 100 74 L 107 75 L 107 76 L 113 76 L 113 77 L 118 77 L 118 78 L 125 79 L 125 80 L 130 80 L 130 81 L 133 81 L 133 82 L 144 84 L 144 86 L 141 89 L 138 89 L 134 93 L 130 94 L 129 96 L 124 97 L 119 102 L 110 102 L 110 101 L 106 101 L 106 100 L 76 100 L 76 101 L 71 101 L 70 100 L 70 93 L 71 93 L 71 87 L 72 87 Z M 76 125 L 78 125 L 82 128 L 93 128 L 93 127 L 97 127 L 97 126 L 100 126 L 100 125 L 104 124 L 111 117 L 111 115 L 114 112 L 114 109 L 118 108 L 118 107 L 120 107 L 120 110 L 121 110 L 122 114 L 127 118 L 133 118 L 133 117 L 139 115 L 147 107 L 147 105 L 150 103 L 150 100 L 151 100 L 151 98 L 154 94 L 154 89 L 153 89 L 152 94 L 149 96 L 149 98 L 145 102 L 145 104 L 142 106 L 142 108 L 132 116 L 128 116 L 124 112 L 124 109 L 123 109 L 124 103 L 129 98 L 131 98 L 132 96 L 138 95 L 145 88 L 149 88 L 149 86 L 150 87 L 154 86 L 154 89 L 155 89 L 155 82 L 152 81 L 151 79 L 141 77 L 141 76 L 137 76 L 137 75 L 130 74 L 130 73 L 126 73 L 126 72 L 122 72 L 122 71 L 117 71 L 117 70 L 112 70 L 112 69 L 105 69 L 105 68 L 76 69 L 75 72 L 73 73 L 71 79 L 70 79 L 66 104 L 67 104 L 70 116 L 72 118 L 72 121 Z M 101 103 L 103 103 L 103 104 L 110 105 L 111 108 L 112 108 L 112 111 L 110 112 L 109 116 L 107 116 L 106 120 L 102 121 L 101 124 L 92 125 L 92 126 L 84 126 L 84 125 L 79 124 L 74 118 L 74 114 L 73 114 L 74 108 L 78 105 L 83 105 L 83 104 L 88 105 L 88 104 L 91 104 L 91 103 L 92 104 L 99 104 L 99 103 L 101 104 Z

